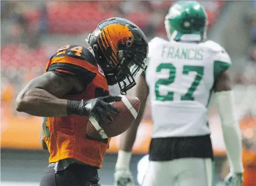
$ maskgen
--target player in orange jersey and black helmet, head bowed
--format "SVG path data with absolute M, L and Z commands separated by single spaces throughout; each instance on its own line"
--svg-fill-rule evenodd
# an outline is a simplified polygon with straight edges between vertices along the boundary
M 110 139 L 86 136 L 89 115 L 112 121 L 118 114 L 109 95 L 118 84 L 122 94 L 136 85 L 145 70 L 148 43 L 137 25 L 123 18 L 109 18 L 97 26 L 84 46 L 61 47 L 48 61 L 45 73 L 29 82 L 16 99 L 16 109 L 44 117 L 43 140 L 49 166 L 41 186 L 99 185 L 97 169 Z M 45 147 L 46 148 L 46 147 Z

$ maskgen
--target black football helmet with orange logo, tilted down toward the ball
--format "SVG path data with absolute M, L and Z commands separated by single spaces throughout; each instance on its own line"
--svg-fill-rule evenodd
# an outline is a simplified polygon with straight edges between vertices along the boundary
M 147 67 L 149 44 L 130 20 L 114 17 L 101 22 L 87 38 L 109 85 L 117 84 L 122 94 L 136 85 Z

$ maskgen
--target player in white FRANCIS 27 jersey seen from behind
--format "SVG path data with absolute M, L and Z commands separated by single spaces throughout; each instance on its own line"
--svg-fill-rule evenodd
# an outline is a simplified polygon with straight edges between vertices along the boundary
M 240 186 L 244 171 L 241 133 L 234 115 L 234 94 L 227 73 L 231 59 L 219 44 L 206 41 L 207 15 L 198 2 L 174 3 L 165 18 L 169 41 L 149 43 L 149 65 L 138 80 L 141 109 L 121 137 L 115 185 L 134 185 L 129 170 L 131 150 L 147 96 L 153 131 L 143 186 L 210 186 L 214 164 L 207 106 L 215 92 L 227 157 L 225 185 Z

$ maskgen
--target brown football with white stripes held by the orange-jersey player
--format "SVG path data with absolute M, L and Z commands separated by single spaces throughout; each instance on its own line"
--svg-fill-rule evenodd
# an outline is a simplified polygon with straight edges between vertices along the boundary
M 102 126 L 99 126 L 93 116 L 89 117 L 86 129 L 87 136 L 95 139 L 106 139 L 122 134 L 132 125 L 137 118 L 140 101 L 137 97 L 121 96 L 122 100 L 111 103 L 119 111 L 118 115 L 111 115 L 112 122 L 106 121 Z

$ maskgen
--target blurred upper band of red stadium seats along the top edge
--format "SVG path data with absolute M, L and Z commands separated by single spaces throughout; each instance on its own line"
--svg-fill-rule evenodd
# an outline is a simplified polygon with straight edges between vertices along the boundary
M 120 11 L 125 10 L 125 5 L 122 5 L 123 2 L 114 1 L 111 4 L 109 2 L 104 4 L 104 2 L 96 1 L 88 3 L 63 2 L 56 4 L 54 2 L 47 2 L 46 18 L 48 20 L 49 33 L 81 34 L 91 30 L 92 27 L 96 27 L 99 22 L 109 17 L 126 17 L 144 29 L 147 24 L 152 22 L 154 14 L 159 12 L 166 13 L 173 2 L 150 2 L 150 8 L 147 8 L 151 10 L 150 12 L 146 8 L 139 11 L 134 9 L 134 11 L 129 10 L 123 13 L 123 15 L 120 13 Z M 214 24 L 219 9 L 225 2 L 214 1 L 212 3 L 214 3 L 214 6 L 212 4 L 205 4 L 210 25 Z M 61 9 L 59 6 L 61 6 Z M 29 27 L 33 27 L 39 23 L 44 13 L 42 8 L 34 8 L 23 12 L 23 16 L 28 20 Z M 162 17 L 159 24 L 157 24 L 157 31 L 163 31 L 164 16 Z

